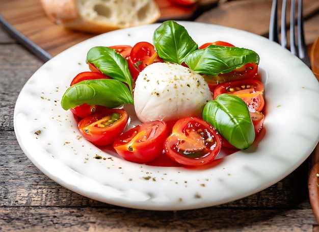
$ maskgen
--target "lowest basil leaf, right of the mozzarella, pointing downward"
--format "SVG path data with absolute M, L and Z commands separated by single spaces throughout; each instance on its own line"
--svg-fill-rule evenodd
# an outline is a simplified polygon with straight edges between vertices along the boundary
M 255 140 L 249 110 L 245 101 L 235 95 L 224 93 L 208 101 L 203 109 L 203 119 L 236 148 L 246 149 Z

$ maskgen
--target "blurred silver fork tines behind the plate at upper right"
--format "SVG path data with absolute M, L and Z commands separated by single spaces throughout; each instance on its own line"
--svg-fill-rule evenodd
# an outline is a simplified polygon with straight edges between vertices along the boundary
M 297 36 L 295 32 L 296 25 L 296 0 L 291 0 L 290 4 L 290 25 L 289 25 L 289 42 L 290 52 L 299 57 L 309 68 L 310 59 L 307 53 L 307 46 L 304 38 L 304 19 L 302 0 L 298 0 L 297 9 Z M 280 20 L 280 42 L 279 42 L 279 25 L 278 25 L 278 3 L 273 0 L 270 24 L 269 24 L 269 39 L 280 43 L 282 47 L 288 48 L 287 43 L 287 23 L 286 23 L 287 0 L 282 0 L 281 20 Z M 297 42 L 296 42 L 297 37 Z

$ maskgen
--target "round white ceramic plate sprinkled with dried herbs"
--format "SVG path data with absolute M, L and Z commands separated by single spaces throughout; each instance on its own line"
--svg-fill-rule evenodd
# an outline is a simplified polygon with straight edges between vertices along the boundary
M 225 157 L 215 167 L 194 170 L 130 163 L 79 137 L 76 122 L 61 108 L 60 99 L 73 77 L 89 70 L 87 51 L 100 45 L 152 42 L 159 24 L 151 24 L 79 43 L 34 73 L 21 90 L 14 112 L 17 140 L 34 165 L 76 193 L 146 210 L 226 203 L 261 191 L 294 171 L 319 139 L 319 85 L 310 69 L 267 38 L 218 25 L 179 23 L 199 45 L 224 40 L 259 54 L 267 101 L 259 143 Z

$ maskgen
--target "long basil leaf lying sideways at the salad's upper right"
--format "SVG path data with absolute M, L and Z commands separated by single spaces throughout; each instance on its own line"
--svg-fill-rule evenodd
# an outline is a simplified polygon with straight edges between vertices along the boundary
M 259 56 L 253 50 L 217 45 L 197 49 L 185 57 L 191 69 L 208 75 L 227 73 L 252 62 L 259 64 Z

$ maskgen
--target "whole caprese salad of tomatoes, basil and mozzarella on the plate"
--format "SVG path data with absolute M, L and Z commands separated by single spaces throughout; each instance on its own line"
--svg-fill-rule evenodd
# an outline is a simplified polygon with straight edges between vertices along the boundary
M 259 134 L 264 87 L 255 51 L 225 41 L 198 45 L 175 21 L 154 31 L 153 44 L 92 47 L 90 71 L 78 73 L 61 106 L 82 136 L 112 145 L 123 159 L 179 165 L 214 161 L 221 148 L 246 149 Z M 125 131 L 134 104 L 140 124 Z

